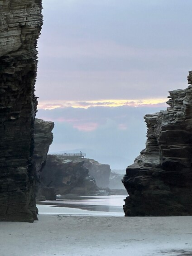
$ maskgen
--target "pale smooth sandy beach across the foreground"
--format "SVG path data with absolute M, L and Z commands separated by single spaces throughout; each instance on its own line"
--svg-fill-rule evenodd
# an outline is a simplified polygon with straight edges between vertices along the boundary
M 192 216 L 0 222 L 0 256 L 192 256 Z

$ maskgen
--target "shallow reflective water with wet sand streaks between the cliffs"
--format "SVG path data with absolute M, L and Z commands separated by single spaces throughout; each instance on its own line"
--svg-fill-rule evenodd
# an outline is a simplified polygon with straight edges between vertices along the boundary
M 63 196 L 56 201 L 43 201 L 39 214 L 124 216 L 123 204 L 127 195 Z

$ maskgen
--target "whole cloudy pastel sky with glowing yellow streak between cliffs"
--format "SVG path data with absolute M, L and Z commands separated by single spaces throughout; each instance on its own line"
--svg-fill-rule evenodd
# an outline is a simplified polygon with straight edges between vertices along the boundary
M 126 169 L 145 147 L 143 116 L 187 87 L 191 0 L 44 0 L 38 118 L 50 153 L 79 152 Z

